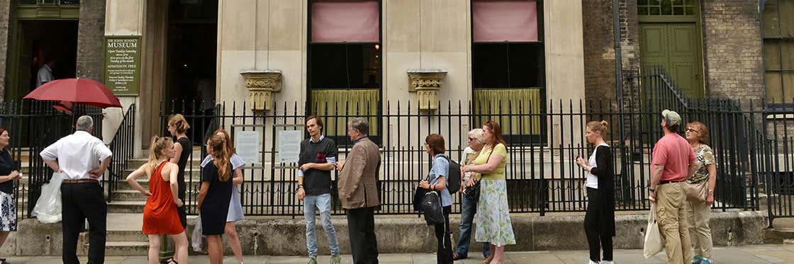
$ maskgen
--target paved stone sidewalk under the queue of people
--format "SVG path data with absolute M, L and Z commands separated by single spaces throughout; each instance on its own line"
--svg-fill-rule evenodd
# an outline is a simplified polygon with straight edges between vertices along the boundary
M 473 252 L 472 252 L 473 253 Z M 794 263 L 794 245 L 754 245 L 742 247 L 715 247 L 713 258 L 719 264 L 766 264 L 766 263 Z M 527 251 L 527 252 L 507 252 L 505 253 L 505 263 L 511 264 L 587 264 L 588 251 Z M 245 256 L 246 263 L 266 263 L 266 264 L 303 264 L 307 258 L 304 256 Z M 380 254 L 381 264 L 433 264 L 436 263 L 435 254 L 412 253 L 412 254 Z M 482 261 L 482 256 L 473 256 L 455 262 L 455 264 L 476 264 Z M 664 253 L 645 259 L 642 250 L 617 250 L 615 251 L 615 263 L 618 264 L 637 264 L 637 263 L 665 263 L 667 257 Z M 49 264 L 60 263 L 60 257 L 9 257 L 9 263 L 13 264 Z M 81 263 L 87 259 L 80 258 Z M 108 264 L 138 264 L 146 263 L 146 257 L 106 257 Z M 328 263 L 329 256 L 320 256 L 318 263 Z M 192 264 L 210 263 L 206 255 L 191 256 Z M 233 256 L 226 256 L 224 263 L 236 264 Z M 353 263 L 350 255 L 342 256 L 342 263 Z

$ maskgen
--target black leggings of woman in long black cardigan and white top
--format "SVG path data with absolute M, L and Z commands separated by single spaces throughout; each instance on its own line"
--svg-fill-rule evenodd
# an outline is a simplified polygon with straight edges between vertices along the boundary
M 603 260 L 612 261 L 612 236 L 599 235 L 599 193 L 598 189 L 588 187 L 588 212 L 584 215 L 584 233 L 590 245 L 590 260 L 601 261 L 600 251 L 603 247 Z

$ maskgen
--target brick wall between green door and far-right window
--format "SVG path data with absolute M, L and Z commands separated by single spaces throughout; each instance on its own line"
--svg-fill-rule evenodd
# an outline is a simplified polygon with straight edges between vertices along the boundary
M 702 2 L 707 96 L 765 101 L 758 2 Z

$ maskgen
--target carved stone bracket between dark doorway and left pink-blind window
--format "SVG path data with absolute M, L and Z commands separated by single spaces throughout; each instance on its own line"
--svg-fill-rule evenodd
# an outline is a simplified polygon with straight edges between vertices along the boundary
M 281 91 L 281 71 L 241 71 L 245 88 L 249 90 L 249 105 L 253 111 L 273 109 L 273 93 Z

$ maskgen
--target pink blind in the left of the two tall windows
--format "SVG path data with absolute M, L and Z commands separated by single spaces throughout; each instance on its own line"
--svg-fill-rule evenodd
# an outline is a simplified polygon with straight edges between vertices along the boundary
M 311 42 L 378 42 L 380 9 L 374 0 L 311 3 Z

